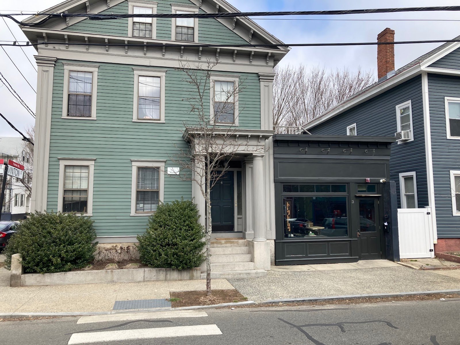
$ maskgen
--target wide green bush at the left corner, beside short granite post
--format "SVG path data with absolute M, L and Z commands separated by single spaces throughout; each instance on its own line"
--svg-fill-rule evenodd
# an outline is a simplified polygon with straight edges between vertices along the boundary
M 32 213 L 6 245 L 6 268 L 19 253 L 26 273 L 66 272 L 88 265 L 96 250 L 93 221 L 74 213 Z

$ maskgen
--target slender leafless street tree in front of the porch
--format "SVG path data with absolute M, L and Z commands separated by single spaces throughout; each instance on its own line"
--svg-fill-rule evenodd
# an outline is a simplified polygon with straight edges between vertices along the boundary
M 245 80 L 236 82 L 211 81 L 211 73 L 217 62 L 207 61 L 194 66 L 188 62 L 179 63 L 176 69 L 185 75 L 184 83 L 189 87 L 183 99 L 189 105 L 190 120 L 184 122 L 184 138 L 190 142 L 188 150 L 179 148 L 180 153 L 171 160 L 181 169 L 173 175 L 184 181 L 192 181 L 204 198 L 206 207 L 206 289 L 211 291 L 211 190 L 228 171 L 229 161 L 238 153 L 253 152 L 236 136 L 233 123 L 241 113 L 242 104 L 236 110 L 236 101 L 244 89 Z M 210 97 L 210 93 L 213 95 Z M 210 99 L 212 99 L 210 103 Z M 212 115 L 211 115 L 212 114 Z M 225 124 L 226 126 L 222 126 Z M 201 224 L 204 224 L 202 220 Z

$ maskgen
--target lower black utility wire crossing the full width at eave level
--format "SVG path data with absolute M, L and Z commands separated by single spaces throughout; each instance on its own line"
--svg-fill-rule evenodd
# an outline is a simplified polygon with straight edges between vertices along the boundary
M 349 42 L 349 43 L 292 43 L 292 44 L 183 44 L 183 43 L 66 43 L 66 42 L 38 42 L 26 44 L 17 44 L 17 42 L 1 43 L 0 46 L 42 46 L 42 45 L 69 45 L 69 46 L 132 46 L 132 47 L 184 47 L 184 48 L 277 48 L 277 47 L 314 47 L 314 46 L 380 46 L 393 44 L 419 44 L 419 43 L 453 43 L 459 40 L 422 40 L 422 41 L 396 41 L 396 42 Z

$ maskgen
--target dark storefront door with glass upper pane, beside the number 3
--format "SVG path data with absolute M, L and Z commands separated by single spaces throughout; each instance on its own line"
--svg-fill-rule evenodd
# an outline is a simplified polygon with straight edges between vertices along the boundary
M 381 259 L 382 241 L 379 199 L 374 197 L 359 198 L 358 206 L 358 245 L 361 259 Z

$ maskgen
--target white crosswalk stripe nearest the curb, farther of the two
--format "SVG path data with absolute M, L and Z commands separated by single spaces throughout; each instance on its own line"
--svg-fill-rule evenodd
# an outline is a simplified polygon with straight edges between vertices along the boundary
M 77 324 L 80 323 L 95 323 L 95 322 L 110 322 L 110 321 L 132 321 L 132 320 L 155 320 L 169 319 L 175 317 L 204 317 L 207 313 L 204 311 L 184 310 L 184 311 L 151 311 L 145 313 L 125 313 L 125 314 L 110 314 L 110 315 L 92 315 L 82 316 Z

